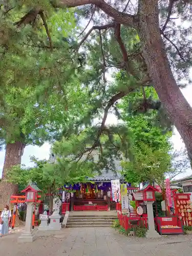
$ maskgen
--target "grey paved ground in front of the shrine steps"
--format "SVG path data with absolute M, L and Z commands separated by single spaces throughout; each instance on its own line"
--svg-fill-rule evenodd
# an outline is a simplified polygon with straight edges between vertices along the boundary
M 125 237 L 112 228 L 69 228 L 39 232 L 33 243 L 18 244 L 19 233 L 0 239 L 6 256 L 190 256 L 192 236 L 149 240 Z M 3 254 L 1 254 L 3 252 Z

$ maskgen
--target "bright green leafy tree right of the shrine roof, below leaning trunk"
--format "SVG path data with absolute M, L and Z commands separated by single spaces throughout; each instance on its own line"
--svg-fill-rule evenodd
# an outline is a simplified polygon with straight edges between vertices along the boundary
M 145 89 L 145 96 L 157 99 L 153 89 Z M 140 98 L 140 93 L 132 93 L 119 104 L 119 108 L 123 110 L 122 119 L 129 127 L 133 141 L 133 158 L 122 161 L 123 174 L 126 180 L 132 183 L 155 181 L 163 186 L 165 175 L 173 172 L 172 158 L 169 154 L 169 138 L 172 133 L 169 132 L 166 123 L 162 126 L 160 122 L 156 122 L 159 110 L 135 113 L 133 104 L 130 109 L 127 100 L 137 103 L 140 102 Z M 127 109 L 129 111 L 126 111 Z

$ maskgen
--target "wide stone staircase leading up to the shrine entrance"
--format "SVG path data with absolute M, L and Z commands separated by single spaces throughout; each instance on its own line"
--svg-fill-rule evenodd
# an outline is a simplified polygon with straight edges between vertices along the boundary
M 72 215 L 69 216 L 69 227 L 110 227 L 117 217 L 114 215 Z

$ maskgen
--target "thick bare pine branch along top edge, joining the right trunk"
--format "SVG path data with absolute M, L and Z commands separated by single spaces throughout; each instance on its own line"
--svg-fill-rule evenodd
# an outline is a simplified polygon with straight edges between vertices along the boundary
M 55 5 L 57 7 L 77 7 L 90 4 L 100 8 L 107 15 L 114 18 L 115 22 L 117 23 L 126 26 L 137 27 L 137 17 L 135 15 L 120 12 L 113 8 L 111 5 L 107 4 L 104 0 L 60 0 Z

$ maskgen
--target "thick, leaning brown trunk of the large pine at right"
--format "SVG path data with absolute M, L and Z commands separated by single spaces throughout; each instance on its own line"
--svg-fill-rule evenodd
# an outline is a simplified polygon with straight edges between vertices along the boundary
M 140 0 L 139 36 L 143 42 L 143 57 L 154 87 L 169 118 L 180 133 L 190 160 L 192 159 L 192 108 L 180 91 L 170 69 L 161 37 L 158 1 Z

